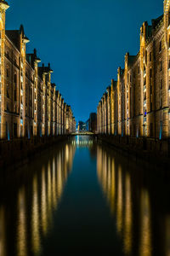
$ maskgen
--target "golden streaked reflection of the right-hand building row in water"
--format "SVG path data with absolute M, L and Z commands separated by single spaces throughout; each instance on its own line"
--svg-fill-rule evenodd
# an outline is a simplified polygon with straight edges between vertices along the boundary
M 101 146 L 97 173 L 125 255 L 169 256 L 170 191 L 165 180 Z

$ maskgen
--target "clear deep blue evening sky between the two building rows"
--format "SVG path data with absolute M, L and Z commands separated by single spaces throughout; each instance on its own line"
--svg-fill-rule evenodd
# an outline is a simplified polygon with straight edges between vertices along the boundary
M 37 54 L 78 120 L 95 112 L 127 51 L 139 51 L 139 28 L 163 13 L 163 0 L 7 0 L 7 29 L 24 25 Z

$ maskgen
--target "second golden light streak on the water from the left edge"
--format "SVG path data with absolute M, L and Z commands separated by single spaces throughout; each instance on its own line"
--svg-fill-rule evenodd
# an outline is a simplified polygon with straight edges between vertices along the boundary
M 26 256 L 26 199 L 24 188 L 20 189 L 18 195 L 18 217 L 17 255 Z

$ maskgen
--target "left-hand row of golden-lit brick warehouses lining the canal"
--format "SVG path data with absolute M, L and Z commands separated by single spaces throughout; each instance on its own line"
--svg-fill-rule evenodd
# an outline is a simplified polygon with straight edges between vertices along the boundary
M 0 0 L 0 138 L 55 136 L 66 132 L 66 104 L 51 82 L 53 70 L 37 50 L 26 53 L 24 27 L 5 29 L 8 3 Z

